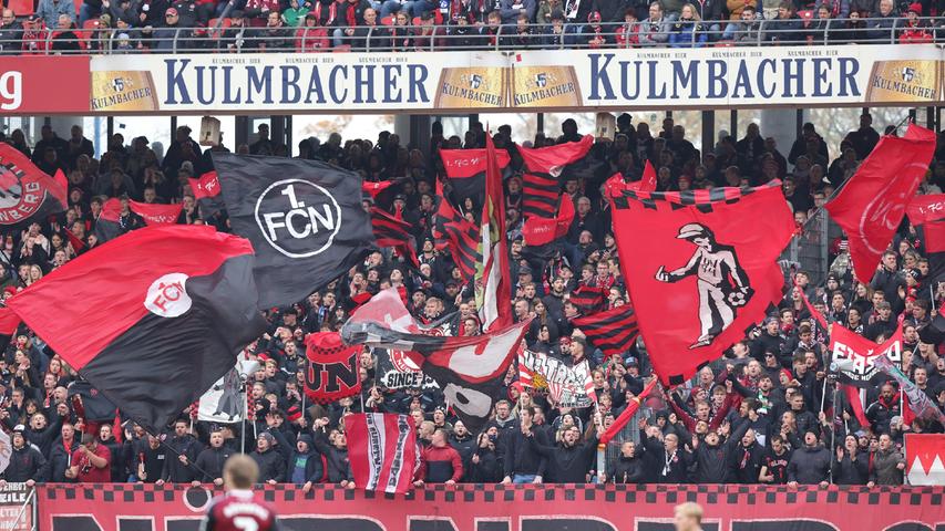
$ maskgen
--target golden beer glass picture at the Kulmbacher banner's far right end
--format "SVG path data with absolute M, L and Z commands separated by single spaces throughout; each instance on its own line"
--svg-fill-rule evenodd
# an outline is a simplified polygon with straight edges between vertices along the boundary
M 933 60 L 879 61 L 870 74 L 866 102 L 941 102 L 943 65 Z

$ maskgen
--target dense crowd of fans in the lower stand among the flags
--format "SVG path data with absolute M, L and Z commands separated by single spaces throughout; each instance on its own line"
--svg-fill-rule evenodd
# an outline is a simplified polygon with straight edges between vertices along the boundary
M 432 148 L 425 153 L 389 132 L 380 132 L 374 140 L 343 140 L 331 134 L 325 142 L 315 137 L 301 140 L 296 156 L 336 164 L 369 181 L 399 179 L 396 194 L 379 196 L 377 206 L 399 211 L 411 222 L 420 267 L 414 269 L 403 257 L 383 249 L 306 300 L 268 312 L 268 333 L 245 351 L 260 366 L 246 384 L 249 418 L 237 424 L 205 423 L 194 410 L 182 412 L 165 431 L 153 435 L 127 419 L 89 423 L 69 398 L 76 374 L 42 339 L 21 325 L 0 358 L 0 423 L 12 434 L 11 464 L 3 480 L 219 483 L 226 457 L 245 448 L 259 464 L 265 482 L 296 483 L 305 489 L 317 482 L 350 486 L 345 416 L 387 412 L 409 414 L 417 423 L 423 447 L 417 485 L 901 485 L 903 435 L 941 433 L 943 426 L 923 418 L 904 423 L 898 386 L 883 374 L 874 376 L 865 391 L 867 421 L 861 424 L 845 395 L 838 397 L 832 392 L 825 339 L 798 293 L 803 290 L 831 322 L 871 341 L 888 337 L 896 317 L 903 315 L 903 371 L 945 409 L 945 345 L 923 343 L 917 335 L 917 329 L 928 325 L 933 308 L 945 303 L 945 285 L 929 285 L 922 242 L 907 221 L 867 284 L 852 279 L 842 240 L 831 246 L 835 259 L 829 272 L 821 271 L 826 279 L 821 285 L 810 282 L 807 272 L 797 272 L 797 288 L 780 310 L 725 357 L 672 391 L 657 387 L 614 442 L 619 455 L 598 468 L 597 436 L 640 394 L 650 376 L 641 344 L 604 356 L 572 324 L 579 310 L 569 294 L 581 285 L 608 288 L 608 306 L 627 302 L 619 260 L 628 258 L 617 253 L 608 205 L 600 192 L 603 179 L 614 173 L 639 179 L 647 160 L 657 168 L 660 190 L 760 185 L 779 178 L 785 201 L 802 226 L 880 138 L 869 114 L 832 152 L 813 124 L 805 124 L 801 137 L 783 152 L 754 124 L 742 137 L 722 135 L 717 145 L 701 152 L 671 118 L 653 132 L 649 124 L 634 124 L 626 114 L 617 124 L 615 137 L 598 139 L 588 155 L 598 169 L 563 176 L 563 192 L 575 201 L 576 216 L 564 251 L 549 262 L 523 256 L 520 146 L 511 140 L 509 126 L 499 127 L 493 135 L 496 147 L 507 150 L 512 160 L 505 180 L 505 216 L 514 293 L 513 308 L 506 311 L 513 311 L 516 320 L 535 317 L 525 339 L 528 348 L 566 364 L 589 364 L 599 409 L 559 407 L 546 394 L 523 387 L 513 364 L 487 425 L 480 433 L 470 433 L 439 389 L 379 386 L 377 358 L 369 350 L 360 357 L 361 396 L 329 405 L 304 400 L 305 334 L 337 331 L 364 293 L 403 288 L 409 310 L 418 320 L 453 315 L 455 334 L 481 333 L 471 279 L 459 273 L 449 252 L 436 250 L 431 226 L 436 199 L 432 190 L 444 176 L 438 150 L 483 147 L 486 132 L 482 124 L 473 123 L 460 138 L 444 137 L 440 124 L 434 123 Z M 891 133 L 895 134 L 894 128 Z M 568 119 L 559 137 L 538 134 L 524 144 L 551 146 L 579 138 L 575 122 Z M 32 157 L 47 173 L 64 170 L 69 180 L 69 209 L 63 215 L 34 223 L 22 233 L 7 235 L 0 250 L 9 266 L 4 268 L 4 299 L 99 244 L 96 216 L 107 198 L 181 201 L 179 223 L 208 223 L 227 230 L 226 214 L 202 212 L 188 185 L 189 177 L 212 169 L 212 152 L 227 148 L 220 145 L 204 152 L 186 126 L 175 132 L 164 154 L 152 149 L 145 137 L 132 138 L 126 145 L 115 134 L 96 157 L 95 146 L 78 126 L 65 138 L 47 126 L 35 144 L 30 145 L 21 131 L 0 142 Z M 287 146 L 269 137 L 265 125 L 253 144 L 236 150 L 290 155 Z M 939 133 L 935 159 L 918 194 L 941 194 L 943 185 L 945 133 Z M 464 215 L 479 216 L 476 198 L 460 202 L 458 208 Z M 366 198 L 366 208 L 370 204 Z M 144 223 L 123 201 L 120 225 L 127 231 Z

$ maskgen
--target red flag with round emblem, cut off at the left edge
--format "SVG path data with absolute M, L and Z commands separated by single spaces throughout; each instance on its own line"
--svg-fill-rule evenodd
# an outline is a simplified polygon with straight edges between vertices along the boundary
M 44 221 L 66 205 L 62 179 L 45 175 L 16 147 L 0 143 L 0 230 Z

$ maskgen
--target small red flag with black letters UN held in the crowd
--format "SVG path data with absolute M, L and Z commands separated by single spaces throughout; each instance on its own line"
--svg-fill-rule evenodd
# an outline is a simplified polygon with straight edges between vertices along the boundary
M 360 345 L 346 345 L 338 332 L 305 337 L 305 394 L 318 404 L 331 404 L 361 393 Z

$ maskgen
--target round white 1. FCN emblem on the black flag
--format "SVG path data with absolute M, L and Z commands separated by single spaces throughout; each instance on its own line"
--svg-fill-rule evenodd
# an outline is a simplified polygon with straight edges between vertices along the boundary
M 273 183 L 256 200 L 266 241 L 289 258 L 321 253 L 341 229 L 341 207 L 325 188 L 304 179 Z

